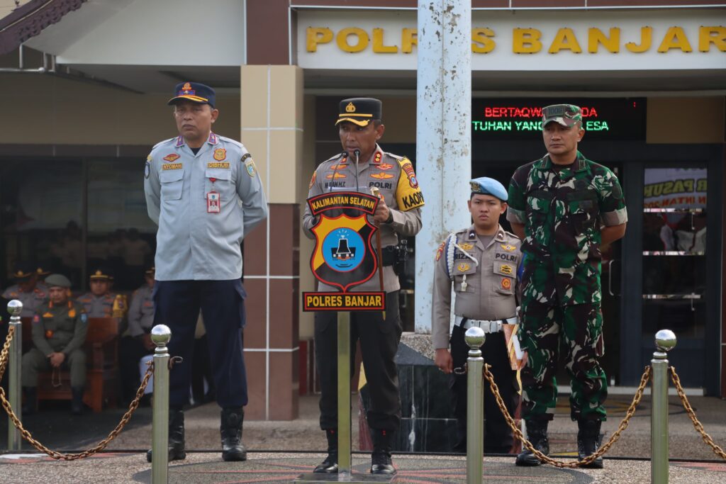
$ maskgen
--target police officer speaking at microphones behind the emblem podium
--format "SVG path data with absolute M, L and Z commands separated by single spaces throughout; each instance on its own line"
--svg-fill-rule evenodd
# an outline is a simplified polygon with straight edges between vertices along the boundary
M 392 474 L 391 443 L 401 420 L 398 376 L 394 357 L 401 338 L 399 316 L 399 279 L 394 271 L 399 236 L 412 237 L 421 229 L 420 207 L 423 195 L 412 163 L 406 157 L 383 152 L 377 141 L 386 127 L 382 123 L 383 105 L 378 99 L 353 98 L 340 102 L 338 126 L 343 152 L 321 163 L 310 180 L 308 197 L 324 192 L 347 190 L 371 193 L 380 190 L 381 200 L 372 217 L 380 226 L 383 261 L 383 290 L 386 292 L 385 319 L 380 312 L 351 313 L 351 354 L 360 340 L 363 367 L 370 386 L 371 404 L 367 422 L 373 440 L 371 472 Z M 317 222 L 309 207 L 303 215 L 303 228 L 313 237 Z M 333 287 L 320 283 L 320 291 Z M 380 291 L 379 275 L 353 291 Z M 315 313 L 315 358 L 320 377 L 320 428 L 325 430 L 328 456 L 314 472 L 338 472 L 338 361 L 337 313 Z

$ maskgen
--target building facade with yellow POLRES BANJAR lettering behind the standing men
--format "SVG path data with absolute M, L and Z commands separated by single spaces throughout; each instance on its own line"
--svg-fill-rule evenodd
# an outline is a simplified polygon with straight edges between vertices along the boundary
M 0 20 L 0 83 L 12 93 L 0 131 L 0 287 L 27 259 L 50 261 L 77 290 L 99 263 L 115 268 L 119 290 L 141 284 L 135 267 L 155 247 L 143 161 L 176 134 L 166 107 L 174 83 L 208 83 L 216 132 L 248 147 L 270 202 L 244 244 L 248 415 L 291 419 L 309 383 L 301 352 L 312 319 L 300 293 L 314 286 L 299 221 L 315 166 L 340 151 L 338 99 L 382 99 L 383 149 L 431 163 L 415 160 L 417 2 L 195 9 L 192 0 L 30 0 Z M 544 151 L 539 109 L 572 102 L 584 110 L 582 152 L 624 186 L 627 234 L 603 250 L 611 381 L 637 385 L 654 333 L 669 328 L 684 384 L 726 396 L 726 5 L 473 0 L 471 49 L 473 176 L 507 184 Z M 409 245 L 417 258 L 436 251 Z M 412 295 L 428 291 L 414 279 L 401 280 L 410 330 Z

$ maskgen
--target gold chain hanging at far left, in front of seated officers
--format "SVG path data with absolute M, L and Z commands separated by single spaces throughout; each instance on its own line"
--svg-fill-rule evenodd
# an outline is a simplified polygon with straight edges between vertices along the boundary
M 5 372 L 5 366 L 7 366 L 10 341 L 12 340 L 12 336 L 14 334 L 15 327 L 11 326 L 8 331 L 5 344 L 3 345 L 2 352 L 0 353 L 0 378 L 2 378 L 2 375 Z M 97 446 L 89 448 L 86 451 L 79 452 L 78 454 L 62 454 L 61 452 L 53 451 L 47 448 L 42 443 L 38 442 L 38 440 L 35 440 L 33 438 L 33 435 L 31 435 L 28 430 L 25 430 L 25 428 L 23 427 L 23 422 L 20 422 L 20 420 L 17 418 L 17 415 L 15 415 L 15 412 L 12 411 L 12 407 L 10 406 L 9 401 L 7 401 L 7 399 L 5 398 L 5 390 L 2 387 L 0 387 L 0 404 L 3 406 L 5 411 L 7 411 L 8 416 L 12 420 L 12 423 L 15 424 L 17 430 L 20 430 L 20 435 L 23 435 L 23 438 L 25 440 L 28 440 L 30 445 L 38 449 L 38 451 L 44 452 L 45 454 L 48 454 L 56 460 L 75 461 L 78 459 L 85 459 L 86 457 L 96 454 L 97 452 L 105 449 L 106 446 L 111 442 L 111 440 L 115 439 L 116 436 L 121 432 L 121 430 L 123 430 L 123 427 L 126 427 L 126 424 L 129 423 L 131 415 L 134 414 L 134 411 L 139 407 L 139 401 L 141 400 L 142 396 L 144 396 L 144 390 L 146 390 L 149 379 L 154 374 L 154 362 L 150 361 L 148 365 L 149 367 L 146 370 L 146 374 L 144 374 L 144 379 L 141 382 L 141 386 L 139 386 L 139 390 L 136 390 L 136 398 L 134 398 L 134 401 L 129 404 L 129 410 L 127 410 L 126 413 L 123 414 L 123 417 L 121 417 L 121 422 L 118 422 L 118 425 L 116 425 L 115 429 L 113 429 L 110 434 L 108 434 L 107 438 L 101 440 L 101 442 Z

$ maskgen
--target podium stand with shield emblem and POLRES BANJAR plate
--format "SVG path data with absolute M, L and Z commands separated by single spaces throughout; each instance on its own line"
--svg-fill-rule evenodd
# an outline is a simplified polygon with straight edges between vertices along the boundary
M 359 192 L 327 192 L 307 200 L 318 221 L 311 229 L 315 248 L 310 268 L 331 291 L 303 292 L 303 311 L 338 313 L 338 473 L 303 474 L 293 482 L 386 483 L 393 475 L 351 472 L 350 311 L 386 311 L 386 292 L 351 291 L 378 271 L 373 239 L 378 230 L 368 216 L 378 197 Z

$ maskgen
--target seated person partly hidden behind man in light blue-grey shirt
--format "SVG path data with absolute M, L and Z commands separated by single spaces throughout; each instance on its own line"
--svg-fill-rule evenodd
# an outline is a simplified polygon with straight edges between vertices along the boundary
M 119 370 L 121 371 L 121 395 L 124 401 L 131 401 L 136 395 L 141 380 L 139 360 L 142 356 L 154 353 L 156 345 L 151 341 L 151 328 L 154 326 L 155 268 L 147 268 L 145 283 L 134 291 L 129 307 L 129 335 L 121 338 L 118 349 Z

